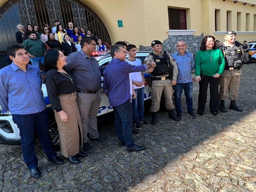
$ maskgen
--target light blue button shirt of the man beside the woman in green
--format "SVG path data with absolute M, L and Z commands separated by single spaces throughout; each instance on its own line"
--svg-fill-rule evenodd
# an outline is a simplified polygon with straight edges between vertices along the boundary
M 191 71 L 195 68 L 193 54 L 185 52 L 184 55 L 180 55 L 179 52 L 175 52 L 172 54 L 172 58 L 175 59 L 178 67 L 177 83 L 193 82 L 191 75 Z

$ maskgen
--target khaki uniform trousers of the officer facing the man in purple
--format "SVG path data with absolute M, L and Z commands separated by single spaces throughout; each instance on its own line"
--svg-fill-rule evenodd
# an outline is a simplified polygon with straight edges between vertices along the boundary
M 154 83 L 154 81 L 152 82 Z M 160 100 L 162 92 L 164 91 L 165 108 L 167 110 L 174 109 L 172 103 L 172 85 L 154 86 L 151 87 L 151 112 L 156 112 L 160 108 Z

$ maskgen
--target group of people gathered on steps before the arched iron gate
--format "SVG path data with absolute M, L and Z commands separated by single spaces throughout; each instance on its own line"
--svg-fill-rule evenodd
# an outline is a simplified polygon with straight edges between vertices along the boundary
M 107 50 L 103 41 L 92 35 L 90 30 L 84 27 L 73 26 L 72 22 L 68 23 L 68 29 L 65 30 L 60 20 L 55 20 L 55 26 L 50 29 L 49 24 L 45 23 L 40 32 L 35 25 L 28 24 L 26 30 L 23 25 L 17 24 L 19 31 L 16 32 L 16 42 L 22 44 L 29 53 L 30 61 L 33 65 L 39 67 L 44 65 L 44 54 L 49 49 L 57 49 L 64 53 L 65 56 L 72 52 L 81 50 L 81 41 L 83 37 L 92 37 L 96 42 L 97 51 Z

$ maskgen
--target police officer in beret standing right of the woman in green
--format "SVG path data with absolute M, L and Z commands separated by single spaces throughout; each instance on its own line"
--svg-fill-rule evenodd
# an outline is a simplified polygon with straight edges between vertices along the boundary
M 236 32 L 229 30 L 226 31 L 224 36 L 225 42 L 221 43 L 220 49 L 222 50 L 225 58 L 224 72 L 220 76 L 220 111 L 227 112 L 225 107 L 225 99 L 228 97 L 230 100 L 229 109 L 236 111 L 243 111 L 236 105 L 238 98 L 239 82 L 241 68 L 243 65 L 243 47 L 236 41 Z

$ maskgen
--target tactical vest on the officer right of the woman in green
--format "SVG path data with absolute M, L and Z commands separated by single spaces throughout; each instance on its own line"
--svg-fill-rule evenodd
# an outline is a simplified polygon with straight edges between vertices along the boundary
M 240 44 L 236 44 L 234 47 L 227 47 L 222 45 L 222 52 L 225 58 L 225 69 L 233 67 L 234 69 L 240 69 L 243 65 L 243 54 Z

